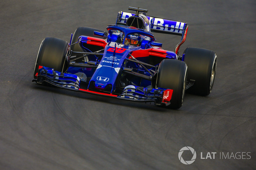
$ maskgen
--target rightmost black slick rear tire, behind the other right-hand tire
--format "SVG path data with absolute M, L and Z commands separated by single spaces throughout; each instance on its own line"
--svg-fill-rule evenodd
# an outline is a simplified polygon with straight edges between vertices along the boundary
M 188 47 L 183 53 L 183 61 L 188 66 L 188 81 L 195 80 L 186 92 L 207 96 L 212 92 L 215 79 L 217 55 L 214 51 Z

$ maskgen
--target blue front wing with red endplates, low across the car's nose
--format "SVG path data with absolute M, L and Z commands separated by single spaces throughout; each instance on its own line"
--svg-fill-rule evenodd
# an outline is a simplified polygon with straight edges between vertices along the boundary
M 61 73 L 59 71 L 54 71 L 52 68 L 44 66 L 39 66 L 39 70 L 36 76 L 37 78 L 33 79 L 32 81 L 35 81 L 38 84 L 49 83 L 51 85 L 68 90 L 93 93 L 138 102 L 154 102 L 155 105 L 170 105 L 170 100 L 172 98 L 173 91 L 171 89 L 153 89 L 138 87 L 134 85 L 126 86 L 121 94 L 111 94 L 99 91 L 92 91 L 87 88 L 84 89 L 84 86 L 82 87 L 81 84 L 84 84 L 86 82 L 80 80 L 80 78 L 75 74 Z

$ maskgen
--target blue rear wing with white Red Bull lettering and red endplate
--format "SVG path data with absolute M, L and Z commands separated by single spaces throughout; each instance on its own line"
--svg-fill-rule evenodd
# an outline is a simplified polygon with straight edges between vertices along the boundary
M 135 14 L 119 11 L 116 19 L 116 25 L 126 25 L 126 20 L 131 16 L 135 16 Z M 180 45 L 186 40 L 188 23 L 174 21 L 170 19 L 156 18 L 151 16 L 146 17 L 149 20 L 148 25 L 150 25 L 150 32 L 166 33 L 181 36 L 181 41 L 175 48 L 175 53 L 178 55 Z

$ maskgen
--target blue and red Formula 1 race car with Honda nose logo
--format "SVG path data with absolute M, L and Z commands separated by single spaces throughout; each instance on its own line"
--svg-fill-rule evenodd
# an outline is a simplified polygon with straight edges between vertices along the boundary
M 206 96 L 212 91 L 217 56 L 203 48 L 188 47 L 188 24 L 146 16 L 148 10 L 129 7 L 119 11 L 108 33 L 79 27 L 70 43 L 45 38 L 39 48 L 34 79 L 39 84 L 116 97 L 154 102 L 178 109 L 186 92 Z M 152 32 L 180 35 L 175 51 L 162 49 Z

